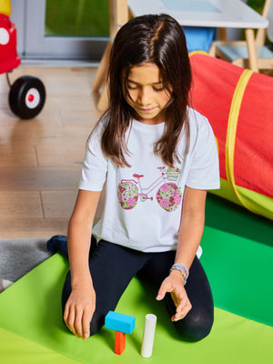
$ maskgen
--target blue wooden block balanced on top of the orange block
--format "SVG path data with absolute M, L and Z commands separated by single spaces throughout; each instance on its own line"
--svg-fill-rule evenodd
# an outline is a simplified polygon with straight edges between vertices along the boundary
M 124 315 L 122 313 L 109 311 L 106 315 L 106 329 L 131 334 L 135 329 L 136 319 L 133 316 Z

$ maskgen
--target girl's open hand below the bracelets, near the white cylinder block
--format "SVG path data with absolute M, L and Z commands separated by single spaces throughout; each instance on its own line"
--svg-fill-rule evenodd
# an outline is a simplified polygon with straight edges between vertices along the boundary
M 167 292 L 170 292 L 177 308 L 176 314 L 171 318 L 172 321 L 184 319 L 192 306 L 187 298 L 186 289 L 184 288 L 184 278 L 179 271 L 173 270 L 170 275 L 164 279 L 158 290 L 156 299 L 161 300 L 165 298 Z

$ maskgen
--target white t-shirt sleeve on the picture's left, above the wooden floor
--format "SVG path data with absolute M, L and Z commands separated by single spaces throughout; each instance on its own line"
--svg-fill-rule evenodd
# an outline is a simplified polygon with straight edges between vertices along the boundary
M 96 126 L 86 146 L 79 189 L 101 191 L 106 181 L 107 165 L 107 159 L 101 149 L 101 128 Z

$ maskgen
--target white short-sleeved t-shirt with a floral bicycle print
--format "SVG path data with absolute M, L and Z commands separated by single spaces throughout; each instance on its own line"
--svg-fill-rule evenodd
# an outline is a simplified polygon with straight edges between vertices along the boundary
M 174 168 L 165 166 L 154 154 L 154 143 L 162 135 L 164 123 L 147 125 L 132 120 L 126 132 L 130 152 L 126 161 L 131 167 L 116 167 L 103 155 L 103 127 L 96 127 L 86 148 L 79 188 L 100 191 L 106 181 L 104 213 L 93 229 L 98 240 L 144 252 L 177 249 L 185 186 L 219 188 L 217 146 L 211 126 L 191 108 L 188 115 L 189 151 L 185 156 L 182 133 L 177 146 L 180 163 Z

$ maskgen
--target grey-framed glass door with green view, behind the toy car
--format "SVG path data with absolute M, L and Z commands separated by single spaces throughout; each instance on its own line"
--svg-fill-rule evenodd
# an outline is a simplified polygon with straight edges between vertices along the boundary
M 98 61 L 109 33 L 108 0 L 12 0 L 22 58 Z

